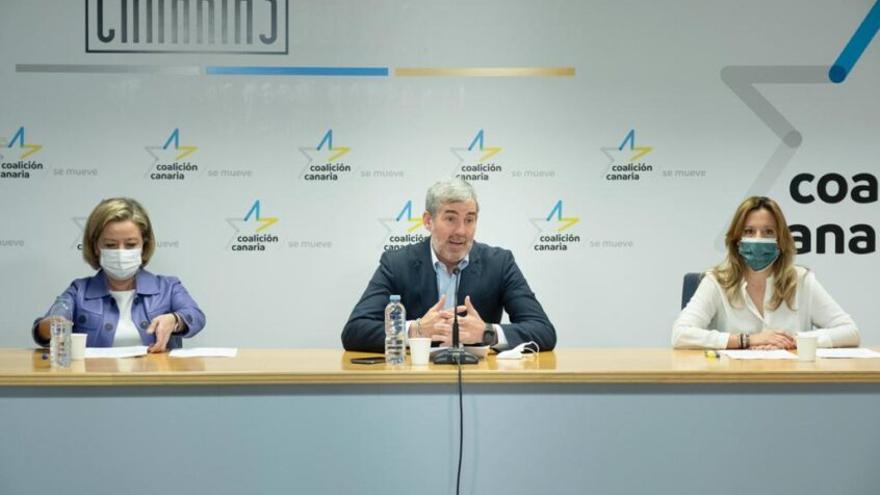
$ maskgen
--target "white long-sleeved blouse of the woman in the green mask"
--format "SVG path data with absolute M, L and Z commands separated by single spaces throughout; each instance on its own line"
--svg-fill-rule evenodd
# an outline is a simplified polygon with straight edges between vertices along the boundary
M 828 295 L 813 272 L 796 266 L 797 289 L 794 309 L 783 301 L 770 309 L 773 277 L 767 278 L 762 316 L 740 283 L 741 300 L 736 305 L 727 300 L 715 276 L 709 272 L 687 306 L 672 326 L 672 346 L 677 349 L 724 349 L 731 333 L 758 333 L 780 330 L 789 333 L 811 332 L 819 347 L 859 345 L 859 329 L 852 317 Z

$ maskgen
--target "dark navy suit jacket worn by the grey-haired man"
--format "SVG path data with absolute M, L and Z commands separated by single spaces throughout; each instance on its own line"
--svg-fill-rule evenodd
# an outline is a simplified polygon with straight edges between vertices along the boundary
M 342 330 L 349 351 L 385 350 L 385 305 L 399 294 L 407 319 L 421 318 L 437 303 L 437 274 L 431 263 L 431 239 L 397 251 L 386 251 L 367 289 Z M 511 323 L 501 325 L 511 347 L 535 341 L 542 351 L 556 346 L 556 330 L 513 260 L 513 254 L 474 242 L 468 266 L 461 272 L 458 304 L 465 296 L 487 323 L 501 323 L 502 310 Z

